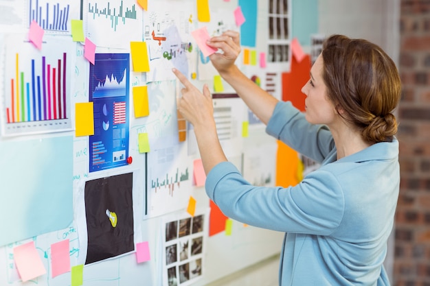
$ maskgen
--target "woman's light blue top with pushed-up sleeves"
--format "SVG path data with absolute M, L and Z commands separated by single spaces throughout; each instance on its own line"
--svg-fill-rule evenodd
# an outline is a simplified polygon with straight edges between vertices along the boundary
M 206 179 L 225 215 L 285 232 L 280 285 L 389 285 L 383 261 L 396 210 L 398 141 L 337 160 L 332 134 L 289 102 L 275 107 L 267 133 L 321 163 L 299 184 L 255 187 L 229 162 Z

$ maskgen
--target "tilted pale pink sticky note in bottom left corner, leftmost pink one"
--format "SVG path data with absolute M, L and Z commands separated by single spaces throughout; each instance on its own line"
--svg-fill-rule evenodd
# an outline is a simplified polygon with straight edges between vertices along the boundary
M 16 246 L 13 251 L 16 269 L 18 269 L 23 282 L 46 273 L 41 257 L 39 257 L 34 246 L 34 241 Z

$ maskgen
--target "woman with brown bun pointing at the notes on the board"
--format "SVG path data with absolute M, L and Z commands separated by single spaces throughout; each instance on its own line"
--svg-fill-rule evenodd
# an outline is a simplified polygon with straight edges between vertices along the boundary
M 179 111 L 194 126 L 206 192 L 240 222 L 286 233 L 280 285 L 389 285 L 383 261 L 399 190 L 400 99 L 394 62 L 366 40 L 330 36 L 303 86 L 306 112 L 253 84 L 234 64 L 239 34 L 207 43 L 220 75 L 267 124 L 267 133 L 321 163 L 296 186 L 255 187 L 227 161 L 212 98 L 174 70 L 185 88 Z

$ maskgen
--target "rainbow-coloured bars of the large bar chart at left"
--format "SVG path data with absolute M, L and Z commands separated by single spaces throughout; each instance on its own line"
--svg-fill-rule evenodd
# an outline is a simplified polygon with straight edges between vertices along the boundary
M 10 80 L 10 104 L 5 106 L 8 123 L 67 119 L 66 53 L 57 60 L 57 67 L 47 64 L 45 56 L 40 60 L 41 70 L 36 70 L 36 59 L 32 59 L 31 75 L 27 75 L 20 71 L 19 53 L 16 53 L 15 78 Z M 26 82 L 27 77 L 30 80 Z

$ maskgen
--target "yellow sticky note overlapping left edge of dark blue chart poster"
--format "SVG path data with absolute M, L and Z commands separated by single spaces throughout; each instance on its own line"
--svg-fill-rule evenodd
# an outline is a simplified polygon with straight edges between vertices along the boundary
M 75 136 L 94 135 L 94 103 L 83 102 L 75 105 Z

